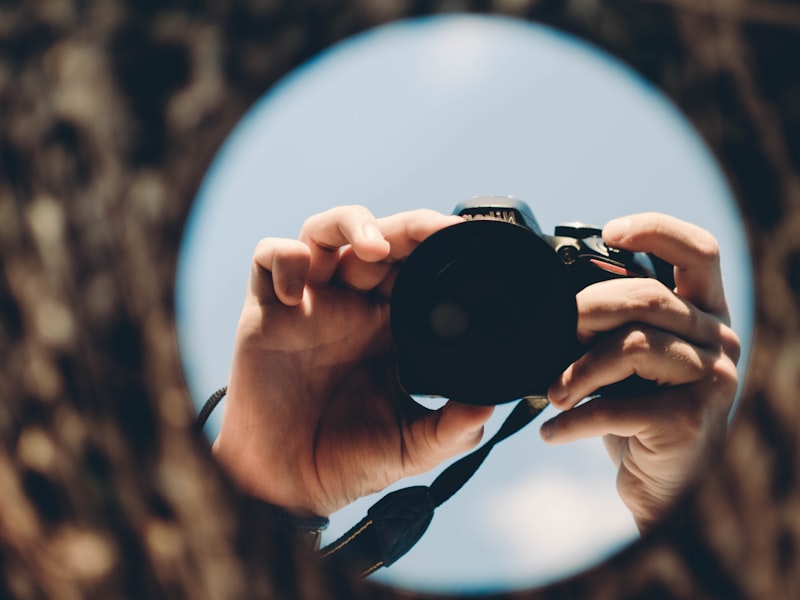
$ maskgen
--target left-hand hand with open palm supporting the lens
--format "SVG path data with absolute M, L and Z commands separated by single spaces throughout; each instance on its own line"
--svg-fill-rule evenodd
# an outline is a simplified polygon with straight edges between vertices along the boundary
M 214 443 L 244 491 L 327 516 L 480 441 L 492 409 L 421 407 L 397 381 L 389 327 L 399 262 L 459 221 L 349 206 L 258 244 Z

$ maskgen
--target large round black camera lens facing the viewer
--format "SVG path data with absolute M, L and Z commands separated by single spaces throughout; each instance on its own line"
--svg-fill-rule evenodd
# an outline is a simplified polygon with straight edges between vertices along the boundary
M 467 221 L 426 239 L 391 299 L 406 390 L 472 404 L 546 390 L 574 350 L 563 268 L 543 239 L 509 223 Z

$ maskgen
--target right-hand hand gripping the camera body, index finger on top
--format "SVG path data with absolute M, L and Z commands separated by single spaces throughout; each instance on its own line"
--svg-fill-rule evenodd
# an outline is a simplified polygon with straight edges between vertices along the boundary
M 740 346 L 710 233 L 648 213 L 609 222 L 603 238 L 675 265 L 675 290 L 631 278 L 579 292 L 578 337 L 590 349 L 548 390 L 550 402 L 564 412 L 541 433 L 552 443 L 604 436 L 619 467 L 618 492 L 644 530 L 724 440 Z M 581 403 L 634 373 L 664 387 L 643 397 Z

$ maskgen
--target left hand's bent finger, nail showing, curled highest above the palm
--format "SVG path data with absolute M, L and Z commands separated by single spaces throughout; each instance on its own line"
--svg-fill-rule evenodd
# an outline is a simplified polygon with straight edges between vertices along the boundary
M 340 206 L 309 217 L 299 239 L 310 248 L 308 280 L 315 284 L 333 277 L 343 246 L 350 245 L 356 256 L 367 262 L 383 260 L 390 250 L 377 219 L 363 206 Z

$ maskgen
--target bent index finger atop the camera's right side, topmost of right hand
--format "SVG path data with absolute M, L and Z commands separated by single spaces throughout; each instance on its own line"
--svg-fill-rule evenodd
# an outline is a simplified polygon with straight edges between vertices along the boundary
M 678 293 L 726 322 L 728 305 L 719 266 L 719 244 L 711 233 L 660 213 L 614 219 L 603 228 L 610 246 L 648 252 L 675 265 Z

